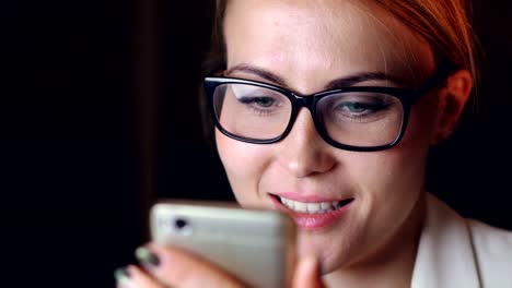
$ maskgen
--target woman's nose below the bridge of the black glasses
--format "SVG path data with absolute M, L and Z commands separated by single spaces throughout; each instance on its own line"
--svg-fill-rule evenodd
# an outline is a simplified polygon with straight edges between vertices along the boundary
M 336 165 L 334 147 L 316 131 L 313 117 L 302 108 L 290 133 L 277 144 L 279 165 L 296 178 L 324 173 Z

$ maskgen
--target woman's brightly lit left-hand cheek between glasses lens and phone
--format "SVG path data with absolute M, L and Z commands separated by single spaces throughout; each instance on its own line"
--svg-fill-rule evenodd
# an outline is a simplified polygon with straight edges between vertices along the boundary
M 242 206 L 259 206 L 260 179 L 271 161 L 268 145 L 256 145 L 230 139 L 216 130 L 219 156 L 231 184 L 231 189 Z

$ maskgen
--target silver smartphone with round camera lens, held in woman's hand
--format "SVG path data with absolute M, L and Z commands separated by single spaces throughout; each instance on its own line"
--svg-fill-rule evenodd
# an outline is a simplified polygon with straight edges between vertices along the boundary
M 295 225 L 279 212 L 221 202 L 164 201 L 151 208 L 152 241 L 217 264 L 251 287 L 289 287 Z

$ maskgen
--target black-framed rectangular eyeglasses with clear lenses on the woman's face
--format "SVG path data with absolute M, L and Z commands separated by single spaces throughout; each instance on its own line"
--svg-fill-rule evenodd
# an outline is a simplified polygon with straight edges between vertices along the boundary
M 276 143 L 288 135 L 300 108 L 305 107 L 318 134 L 330 145 L 374 152 L 398 144 L 411 106 L 442 80 L 435 73 L 418 89 L 350 86 L 313 95 L 234 77 L 207 76 L 203 84 L 213 123 L 232 139 Z

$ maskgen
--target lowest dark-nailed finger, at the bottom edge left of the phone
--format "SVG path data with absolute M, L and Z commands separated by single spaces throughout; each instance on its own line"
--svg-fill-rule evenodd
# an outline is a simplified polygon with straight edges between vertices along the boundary
M 119 268 L 114 274 L 117 288 L 164 288 L 156 279 L 135 265 Z

